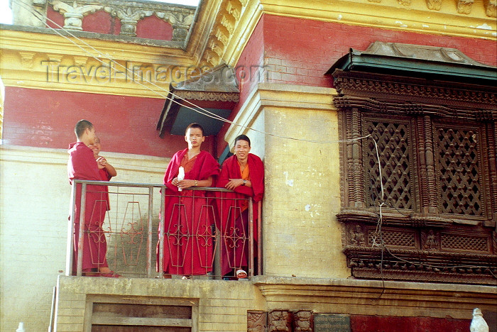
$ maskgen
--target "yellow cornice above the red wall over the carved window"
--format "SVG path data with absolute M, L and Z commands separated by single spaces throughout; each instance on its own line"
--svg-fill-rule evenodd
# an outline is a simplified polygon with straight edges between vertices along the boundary
M 495 9 L 493 0 L 488 1 L 488 4 L 479 3 L 479 6 L 472 8 L 472 10 L 469 7 L 469 13 L 458 13 L 457 9 L 449 6 L 441 6 L 439 10 L 432 11 L 432 9 L 438 8 L 436 3 L 439 0 L 434 0 L 435 3 L 432 4 L 430 4 L 432 0 L 427 0 L 425 3 L 422 1 L 398 1 L 388 4 L 380 3 L 380 1 L 369 3 L 364 1 L 334 1 L 325 4 L 295 0 L 292 1 L 292 6 L 281 6 L 281 1 L 278 0 L 260 0 L 259 2 L 264 13 L 281 16 L 469 38 L 493 40 L 497 38 L 496 21 L 493 19 L 496 16 L 494 15 L 495 11 L 492 11 Z M 441 1 L 440 4 L 442 4 Z M 468 5 L 462 6 L 464 11 L 468 11 L 466 9 Z

